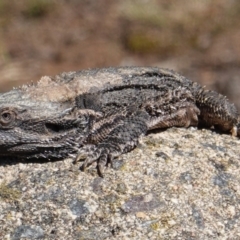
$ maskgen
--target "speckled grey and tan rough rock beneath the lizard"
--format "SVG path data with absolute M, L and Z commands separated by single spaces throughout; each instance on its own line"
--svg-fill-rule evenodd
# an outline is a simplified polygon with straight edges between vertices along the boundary
M 72 160 L 0 165 L 0 239 L 240 239 L 239 139 L 144 137 L 105 177 Z

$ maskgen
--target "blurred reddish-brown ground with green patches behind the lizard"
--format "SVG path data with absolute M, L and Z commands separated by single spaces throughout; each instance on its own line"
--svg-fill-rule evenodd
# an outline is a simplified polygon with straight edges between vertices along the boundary
M 0 0 L 0 92 L 125 65 L 174 69 L 240 109 L 240 1 Z

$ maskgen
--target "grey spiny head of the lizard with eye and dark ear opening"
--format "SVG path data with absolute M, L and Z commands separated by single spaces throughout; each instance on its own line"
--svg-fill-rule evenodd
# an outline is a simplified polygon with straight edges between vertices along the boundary
M 59 159 L 76 152 L 87 137 L 92 110 L 59 103 L 1 104 L 0 155 Z

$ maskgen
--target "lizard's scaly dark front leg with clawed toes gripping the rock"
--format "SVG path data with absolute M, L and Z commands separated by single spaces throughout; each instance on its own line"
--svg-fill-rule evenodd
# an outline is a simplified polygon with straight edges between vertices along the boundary
M 103 176 L 103 168 L 108 162 L 111 163 L 113 158 L 132 150 L 138 144 L 141 135 L 146 134 L 148 118 L 147 113 L 139 111 L 126 117 L 102 142 L 81 148 L 76 161 L 87 156 L 81 170 L 84 171 L 87 166 L 97 162 L 98 173 Z

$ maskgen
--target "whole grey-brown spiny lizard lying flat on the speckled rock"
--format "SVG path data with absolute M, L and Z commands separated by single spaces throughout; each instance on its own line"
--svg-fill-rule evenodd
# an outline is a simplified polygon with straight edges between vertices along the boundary
M 0 155 L 103 167 L 152 129 L 204 126 L 240 136 L 235 106 L 166 69 L 105 68 L 43 77 L 0 95 Z

